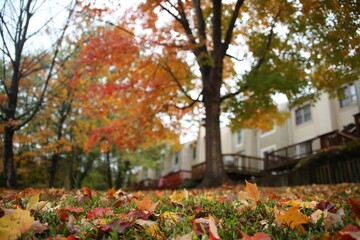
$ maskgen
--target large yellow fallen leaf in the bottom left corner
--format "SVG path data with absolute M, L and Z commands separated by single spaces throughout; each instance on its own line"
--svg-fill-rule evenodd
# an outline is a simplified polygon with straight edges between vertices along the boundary
M 0 239 L 18 239 L 34 222 L 29 210 L 17 208 L 12 214 L 0 218 Z

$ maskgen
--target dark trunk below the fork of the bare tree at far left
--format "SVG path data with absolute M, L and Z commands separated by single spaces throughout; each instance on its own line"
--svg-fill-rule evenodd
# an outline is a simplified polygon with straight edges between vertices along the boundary
M 13 150 L 13 138 L 14 130 L 11 126 L 5 126 L 4 133 L 4 175 L 6 179 L 6 187 L 16 188 L 16 172 L 14 167 L 14 150 Z

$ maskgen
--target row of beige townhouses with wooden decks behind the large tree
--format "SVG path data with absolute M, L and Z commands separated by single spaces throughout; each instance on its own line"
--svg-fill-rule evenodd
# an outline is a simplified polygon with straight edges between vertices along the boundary
M 323 93 L 315 103 L 303 101 L 301 105 L 281 104 L 280 110 L 290 113 L 286 122 L 269 131 L 221 129 L 221 144 L 224 166 L 229 173 L 288 166 L 287 161 L 298 160 L 316 151 L 340 144 L 340 141 L 355 140 L 360 133 L 360 81 L 342 86 L 338 98 Z M 356 128 L 357 126 L 357 128 Z M 334 141 L 337 140 L 336 143 Z M 163 154 L 159 159 L 160 169 L 143 169 L 137 181 L 155 187 L 162 179 L 161 187 L 178 187 L 184 181 L 201 179 L 205 169 L 205 128 L 200 127 L 196 141 L 183 144 L 178 152 Z M 146 175 L 146 179 L 144 176 Z M 140 185 L 141 185 L 140 184 Z M 165 184 L 165 185 L 164 185 Z

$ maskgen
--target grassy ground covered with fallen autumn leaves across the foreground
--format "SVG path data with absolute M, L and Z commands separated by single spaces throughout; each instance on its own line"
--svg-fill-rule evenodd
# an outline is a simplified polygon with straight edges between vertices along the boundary
M 0 196 L 0 239 L 360 239 L 360 184 Z

